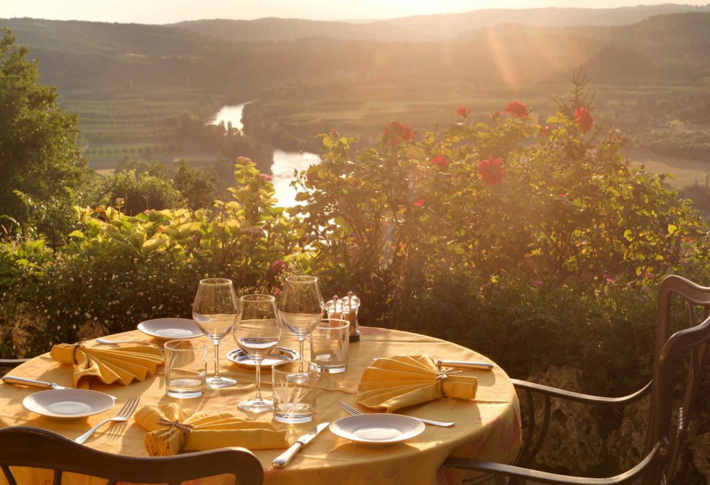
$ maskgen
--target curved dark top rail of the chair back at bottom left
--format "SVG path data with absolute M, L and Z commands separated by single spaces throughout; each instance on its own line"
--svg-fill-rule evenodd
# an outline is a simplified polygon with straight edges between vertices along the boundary
M 177 485 L 206 476 L 231 474 L 234 483 L 257 485 L 263 481 L 259 460 L 244 448 L 222 448 L 174 457 L 126 457 L 78 445 L 54 432 L 34 427 L 0 429 L 0 467 L 10 485 L 17 485 L 10 467 L 51 469 L 54 484 L 70 472 L 141 484 Z

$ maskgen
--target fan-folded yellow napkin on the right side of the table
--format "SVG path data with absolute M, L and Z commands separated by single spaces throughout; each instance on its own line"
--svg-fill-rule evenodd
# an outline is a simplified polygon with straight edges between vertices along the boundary
M 423 355 L 377 359 L 362 373 L 357 402 L 392 413 L 437 398 L 473 399 L 479 381 L 451 369 L 439 369 Z

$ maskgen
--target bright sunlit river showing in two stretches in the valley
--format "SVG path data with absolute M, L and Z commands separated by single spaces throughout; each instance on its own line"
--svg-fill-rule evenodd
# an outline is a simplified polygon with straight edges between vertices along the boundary
M 212 119 L 210 123 L 219 124 L 219 121 L 224 121 L 226 126 L 226 124 L 231 121 L 231 126 L 234 128 L 238 128 L 239 130 L 244 129 L 244 124 L 241 123 L 241 114 L 246 104 L 247 103 L 222 107 L 222 109 L 214 115 L 214 119 Z M 299 153 L 283 150 L 273 151 L 271 182 L 273 183 L 273 190 L 278 200 L 278 205 L 281 207 L 293 207 L 293 205 L 295 205 L 296 190 L 294 187 L 290 186 L 290 183 L 294 180 L 293 170 L 305 170 L 308 168 L 308 165 L 317 165 L 318 163 L 320 163 L 320 156 L 316 153 Z

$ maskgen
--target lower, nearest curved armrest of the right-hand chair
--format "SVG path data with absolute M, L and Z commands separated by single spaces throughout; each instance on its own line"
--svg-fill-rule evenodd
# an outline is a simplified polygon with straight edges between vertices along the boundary
M 651 449 L 651 451 L 643 460 L 641 460 L 639 464 L 627 472 L 623 472 L 620 475 L 612 476 L 610 478 L 586 478 L 581 476 L 540 472 L 539 470 L 515 467 L 513 465 L 501 463 L 481 462 L 477 459 L 468 458 L 447 458 L 444 460 L 442 466 L 472 470 L 476 472 L 488 472 L 493 474 L 493 476 L 496 476 L 496 479 L 501 476 L 506 476 L 509 478 L 527 479 L 545 484 L 616 485 L 644 473 L 646 469 L 648 469 L 649 465 L 656 459 L 657 455 L 665 449 L 667 449 L 666 445 L 662 442 L 657 442 L 653 449 Z M 496 481 L 496 483 L 498 483 L 498 481 Z

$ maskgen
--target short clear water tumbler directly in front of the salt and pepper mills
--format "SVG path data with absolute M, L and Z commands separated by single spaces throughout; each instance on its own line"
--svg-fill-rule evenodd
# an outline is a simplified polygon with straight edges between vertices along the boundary
M 324 318 L 311 332 L 311 361 L 318 372 L 337 374 L 344 372 L 348 363 L 350 322 L 337 318 Z

